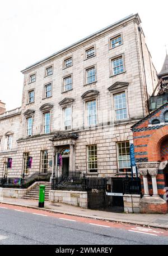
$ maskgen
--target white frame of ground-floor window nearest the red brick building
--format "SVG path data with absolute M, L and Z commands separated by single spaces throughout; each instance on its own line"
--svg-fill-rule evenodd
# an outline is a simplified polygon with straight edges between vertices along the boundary
M 122 158 L 122 155 L 121 155 L 121 158 L 120 158 L 120 153 L 119 153 L 119 143 L 125 143 L 125 145 L 126 145 L 126 143 L 127 142 L 129 142 L 129 141 L 119 141 L 119 142 L 116 142 L 116 152 L 117 152 L 117 164 L 118 164 L 118 172 L 119 173 L 123 173 L 124 172 L 124 169 L 127 169 L 127 172 L 131 172 L 131 167 L 130 167 L 130 153 L 129 154 L 127 154 L 127 152 L 126 152 L 126 150 L 125 150 L 125 152 L 126 152 L 126 154 L 125 155 L 123 155 L 123 156 L 125 156 L 124 158 Z M 130 147 L 130 143 L 129 143 L 129 147 Z M 127 148 L 127 149 L 129 149 L 129 147 L 125 147 L 125 149 Z M 122 149 L 123 149 L 123 147 L 122 147 Z M 122 152 L 122 154 L 123 154 L 123 152 Z M 120 159 L 119 159 L 120 158 Z M 127 167 L 120 167 L 119 165 L 119 161 L 127 161 Z M 120 170 L 120 169 L 123 169 L 123 171 L 122 170 Z M 126 173 L 126 172 L 124 172 L 124 173 Z

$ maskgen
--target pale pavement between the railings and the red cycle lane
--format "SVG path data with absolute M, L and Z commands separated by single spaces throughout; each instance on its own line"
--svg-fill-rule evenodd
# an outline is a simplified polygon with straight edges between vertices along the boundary
M 46 210 L 54 213 L 63 213 L 68 215 L 100 219 L 105 221 L 138 224 L 147 227 L 165 228 L 168 230 L 168 213 L 167 214 L 138 214 L 138 213 L 113 213 L 104 212 L 100 210 L 91 210 L 80 208 L 73 205 L 63 203 L 50 203 L 45 201 L 44 208 L 38 208 L 38 200 L 16 199 L 11 197 L 2 197 L 0 203 L 11 204 L 18 206 L 25 206 L 27 208 L 34 208 Z

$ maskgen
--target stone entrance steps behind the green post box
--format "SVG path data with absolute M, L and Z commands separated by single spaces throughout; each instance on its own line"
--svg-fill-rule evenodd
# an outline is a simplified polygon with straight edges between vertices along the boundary
M 50 182 L 38 182 L 36 186 L 34 186 L 31 190 L 29 190 L 23 199 L 32 199 L 38 200 L 39 199 L 39 186 L 45 185 L 45 201 L 49 200 L 49 191 L 51 190 L 52 183 Z

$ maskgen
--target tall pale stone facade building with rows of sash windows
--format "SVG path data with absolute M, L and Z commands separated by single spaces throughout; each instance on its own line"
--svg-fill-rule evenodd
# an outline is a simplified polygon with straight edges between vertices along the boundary
M 0 115 L 1 177 L 52 172 L 57 152 L 58 175 L 130 172 L 130 127 L 158 82 L 140 24 L 130 15 L 22 70 L 22 106 Z

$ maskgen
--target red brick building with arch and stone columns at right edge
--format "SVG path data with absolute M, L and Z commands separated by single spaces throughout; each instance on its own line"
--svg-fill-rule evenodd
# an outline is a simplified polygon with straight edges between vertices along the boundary
M 167 212 L 168 56 L 150 98 L 150 114 L 132 127 L 136 164 L 142 181 L 142 212 Z M 168 190 L 168 189 L 167 189 Z M 168 198 L 167 198 L 168 199 Z

